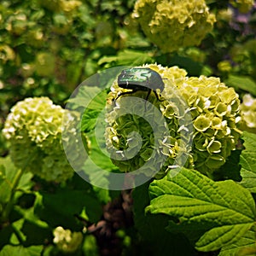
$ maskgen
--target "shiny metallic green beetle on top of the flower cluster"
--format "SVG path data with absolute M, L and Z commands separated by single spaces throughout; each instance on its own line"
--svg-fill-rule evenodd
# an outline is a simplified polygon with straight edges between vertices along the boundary
M 165 84 L 160 77 L 160 74 L 148 67 L 131 67 L 124 69 L 119 74 L 118 84 L 119 87 L 123 89 L 131 89 L 131 91 L 122 92 L 119 94 L 119 96 L 131 94 L 137 90 L 148 90 L 146 100 L 148 100 L 148 96 L 152 90 L 154 91 L 154 95 L 159 100 L 156 90 L 160 89 L 161 92 L 165 88 Z M 119 96 L 116 98 L 116 100 L 119 98 Z

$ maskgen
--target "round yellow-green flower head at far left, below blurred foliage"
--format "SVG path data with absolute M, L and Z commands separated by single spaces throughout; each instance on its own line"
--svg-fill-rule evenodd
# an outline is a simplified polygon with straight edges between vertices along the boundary
M 73 168 L 61 143 L 62 118 L 66 112 L 48 97 L 26 98 L 16 103 L 3 129 L 15 166 L 47 181 L 64 182 L 73 177 Z M 70 113 L 69 122 L 65 124 L 69 125 L 71 134 L 76 131 L 73 119 L 77 118 L 75 113 Z M 76 147 L 75 142 L 70 142 L 70 145 Z

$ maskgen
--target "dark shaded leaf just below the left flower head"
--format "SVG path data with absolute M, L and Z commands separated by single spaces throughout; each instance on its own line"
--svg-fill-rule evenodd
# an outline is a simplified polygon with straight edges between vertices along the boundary
M 90 191 L 65 188 L 57 189 L 54 194 L 42 191 L 36 195 L 35 214 L 52 227 L 79 228 L 75 216 L 79 216 L 84 209 L 91 223 L 98 221 L 102 215 L 102 206 Z

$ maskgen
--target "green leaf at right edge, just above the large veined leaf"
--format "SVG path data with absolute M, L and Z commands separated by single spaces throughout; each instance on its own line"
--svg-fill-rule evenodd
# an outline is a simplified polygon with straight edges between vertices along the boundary
M 252 193 L 256 193 L 256 134 L 244 131 L 241 137 L 245 149 L 241 151 L 241 185 Z

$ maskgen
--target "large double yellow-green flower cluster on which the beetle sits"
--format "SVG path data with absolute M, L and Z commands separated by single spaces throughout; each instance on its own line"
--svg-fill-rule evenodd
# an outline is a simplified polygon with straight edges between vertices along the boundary
M 146 116 L 152 119 L 150 125 L 142 117 L 132 114 L 122 115 L 127 113 L 127 109 L 136 108 L 136 106 L 131 107 L 131 104 L 129 106 L 129 102 L 122 103 L 122 98 L 129 96 L 145 98 L 147 91 L 119 96 L 116 101 L 108 105 L 107 114 L 107 148 L 113 163 L 119 166 L 121 172 L 131 172 L 152 158 L 155 161 L 154 167 L 159 166 L 157 161 L 162 154 L 165 154 L 167 155 L 166 163 L 161 166 L 160 172 L 155 176 L 160 178 L 172 169 L 173 164 L 175 166 L 179 155 L 187 154 L 188 158 L 184 166 L 210 175 L 224 165 L 231 150 L 236 148 L 241 134 L 237 129 L 240 121 L 240 101 L 235 90 L 225 86 L 218 78 L 188 77 L 186 71 L 178 67 L 168 68 L 153 64 L 145 67 L 158 72 L 165 83 L 160 100 L 151 93 L 148 101 L 160 110 L 166 121 L 168 134 L 157 140 L 154 139 L 150 125 L 159 123 L 158 129 L 160 129 L 161 122 L 155 120 L 153 108 L 148 108 L 146 113 Z M 178 93 L 175 93 L 174 89 Z M 125 91 L 119 88 L 117 82 L 114 82 L 109 100 L 115 99 L 120 92 Z M 141 111 L 143 112 L 143 109 Z M 184 113 L 189 113 L 190 119 L 184 118 Z M 192 126 L 192 130 L 189 125 Z M 136 131 L 136 134 L 139 133 L 142 137 L 142 145 L 137 143 L 138 138 L 132 131 Z M 192 134 L 189 134 L 190 131 Z M 189 137 L 193 143 L 189 144 Z M 155 141 L 158 143 L 155 144 Z M 135 157 L 131 158 L 129 153 L 134 154 L 138 146 L 141 147 L 140 150 Z M 118 159 L 116 156 L 124 150 L 125 158 Z M 154 154 L 152 154 L 153 151 Z M 146 172 L 148 175 L 152 173 Z

